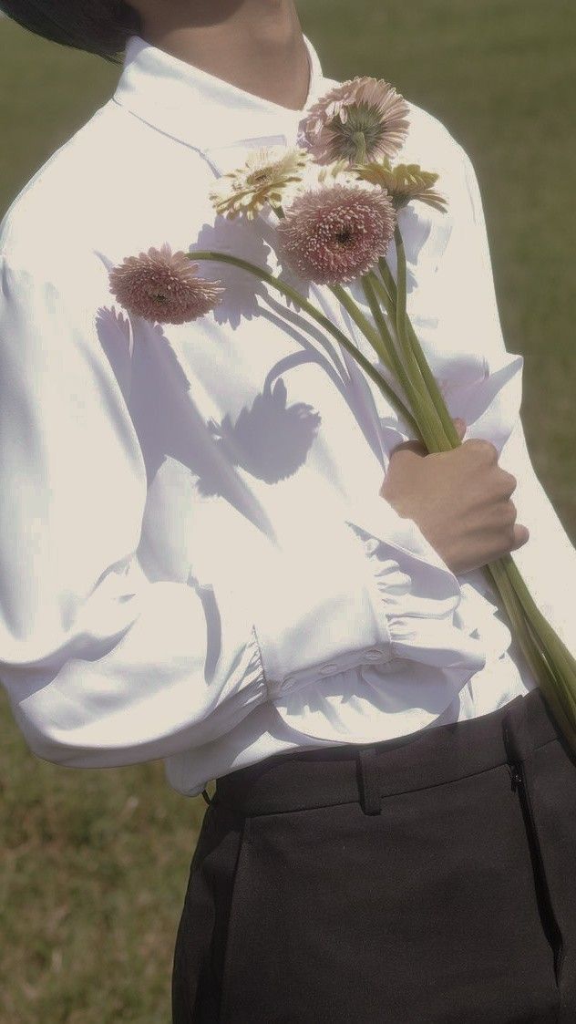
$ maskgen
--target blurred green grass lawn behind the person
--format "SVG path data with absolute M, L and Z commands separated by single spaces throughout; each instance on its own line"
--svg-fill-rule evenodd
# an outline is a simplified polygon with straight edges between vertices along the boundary
M 470 153 L 506 346 L 526 356 L 529 447 L 576 540 L 574 0 L 301 8 L 327 75 L 391 80 Z M 1 216 L 120 72 L 5 20 L 0 53 Z M 0 726 L 0 1024 L 169 1024 L 204 801 L 170 790 L 162 762 L 79 771 L 34 758 L 4 697 Z

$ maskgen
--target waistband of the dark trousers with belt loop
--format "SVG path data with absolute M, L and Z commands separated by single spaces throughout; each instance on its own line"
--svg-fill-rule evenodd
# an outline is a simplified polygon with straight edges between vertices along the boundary
M 380 813 L 383 798 L 523 762 L 560 735 L 536 688 L 488 715 L 399 739 L 266 758 L 217 779 L 213 803 L 257 815 L 358 801 L 365 813 Z

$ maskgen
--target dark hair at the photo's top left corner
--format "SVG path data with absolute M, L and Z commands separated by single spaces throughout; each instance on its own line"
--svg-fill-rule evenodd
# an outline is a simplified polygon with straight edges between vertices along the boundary
M 128 38 L 140 35 L 140 15 L 125 0 L 0 0 L 23 28 L 62 46 L 122 62 Z

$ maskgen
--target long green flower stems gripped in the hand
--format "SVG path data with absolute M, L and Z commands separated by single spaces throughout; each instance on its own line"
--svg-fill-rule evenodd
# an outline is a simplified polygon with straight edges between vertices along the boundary
M 279 218 L 282 216 L 281 209 L 276 207 L 275 212 Z M 262 267 L 231 254 L 193 250 L 186 255 L 194 260 L 229 263 L 240 267 L 292 299 L 351 353 L 429 453 L 448 452 L 457 447 L 460 439 L 407 314 L 406 257 L 398 224 L 394 241 L 397 280 L 394 280 L 384 258 L 378 261 L 378 269 L 374 266 L 360 278 L 373 323 L 368 321 L 342 285 L 328 287 L 400 385 L 402 396 L 391 387 L 357 345 L 291 285 Z M 517 638 L 567 743 L 576 754 L 576 659 L 537 607 L 512 555 L 489 562 L 483 567 L 483 571 L 488 582 L 498 591 L 513 635 Z

